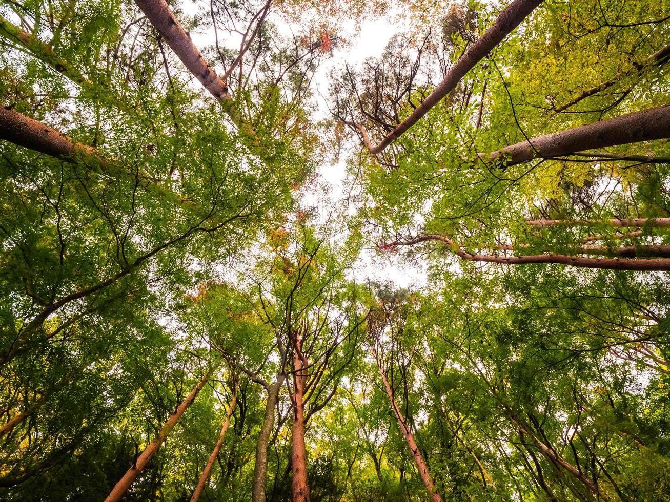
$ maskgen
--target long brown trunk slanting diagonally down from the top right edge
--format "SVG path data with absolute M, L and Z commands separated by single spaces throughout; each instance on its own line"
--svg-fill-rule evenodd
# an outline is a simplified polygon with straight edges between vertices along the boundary
M 395 139 L 400 137 L 407 129 L 412 127 L 421 117 L 423 117 L 435 104 L 438 104 L 447 94 L 452 92 L 458 85 L 458 82 L 474 66 L 486 57 L 500 44 L 509 33 L 513 31 L 538 5 L 542 0 L 514 0 L 507 9 L 500 13 L 498 19 L 491 25 L 486 33 L 480 37 L 470 47 L 468 52 L 461 56 L 454 64 L 452 69 L 446 74 L 444 80 L 435 87 L 435 90 L 417 106 L 413 112 L 403 122 L 398 124 L 391 133 L 379 142 L 379 145 L 370 149 L 373 154 L 381 153 L 386 147 L 391 145 Z

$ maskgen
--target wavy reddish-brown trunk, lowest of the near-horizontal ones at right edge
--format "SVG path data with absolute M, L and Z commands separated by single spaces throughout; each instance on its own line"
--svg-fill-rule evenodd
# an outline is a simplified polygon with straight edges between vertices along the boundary
M 474 262 L 488 262 L 498 264 L 529 264 L 529 263 L 558 263 L 569 266 L 584 268 L 608 268 L 612 270 L 670 270 L 670 258 L 584 258 L 582 256 L 569 256 L 566 254 L 529 254 L 526 256 L 495 256 L 492 254 L 472 254 L 460 248 L 450 238 L 439 235 L 427 235 L 407 241 L 394 241 L 381 246 L 383 249 L 394 246 L 412 246 L 420 242 L 437 240 L 444 242 L 454 251 L 459 258 Z

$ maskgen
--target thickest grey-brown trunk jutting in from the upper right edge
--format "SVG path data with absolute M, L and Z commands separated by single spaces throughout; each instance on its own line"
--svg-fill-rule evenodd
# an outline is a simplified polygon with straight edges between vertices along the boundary
M 665 105 L 521 141 L 480 157 L 486 161 L 500 157 L 502 165 L 511 166 L 537 158 L 565 157 L 582 150 L 669 137 L 670 105 Z

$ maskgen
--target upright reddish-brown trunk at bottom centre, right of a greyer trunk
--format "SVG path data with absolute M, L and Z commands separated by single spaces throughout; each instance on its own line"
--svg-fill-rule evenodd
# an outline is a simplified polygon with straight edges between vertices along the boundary
M 304 392 L 308 361 L 300 355 L 300 335 L 295 335 L 293 349 L 293 428 L 291 470 L 293 471 L 293 502 L 310 502 L 310 485 L 307 479 L 307 450 L 305 447 Z

